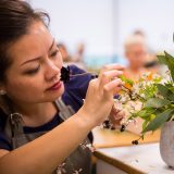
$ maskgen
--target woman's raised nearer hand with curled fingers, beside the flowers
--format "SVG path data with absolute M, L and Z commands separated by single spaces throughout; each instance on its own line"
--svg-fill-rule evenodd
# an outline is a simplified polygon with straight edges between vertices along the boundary
M 105 65 L 99 77 L 89 83 L 84 105 L 78 111 L 79 115 L 92 126 L 99 125 L 109 116 L 113 104 L 113 96 L 119 92 L 123 83 L 119 78 L 124 67 L 119 64 Z M 119 113 L 117 113 L 119 114 Z

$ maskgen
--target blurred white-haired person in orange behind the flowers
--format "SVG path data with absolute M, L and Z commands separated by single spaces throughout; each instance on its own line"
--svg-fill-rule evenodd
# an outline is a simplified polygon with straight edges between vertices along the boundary
M 145 64 L 148 59 L 148 50 L 145 44 L 145 39 L 139 35 L 130 35 L 127 37 L 124 44 L 125 58 L 128 61 L 128 65 L 124 71 L 124 75 L 127 78 L 137 82 L 141 74 L 148 72 L 145 67 Z M 142 120 L 136 119 L 136 123 L 129 123 L 126 127 L 127 130 L 140 134 L 141 132 Z

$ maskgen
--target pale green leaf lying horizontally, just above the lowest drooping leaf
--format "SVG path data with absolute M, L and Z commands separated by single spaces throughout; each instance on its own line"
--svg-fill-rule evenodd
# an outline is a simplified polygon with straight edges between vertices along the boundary
M 151 108 L 161 108 L 164 105 L 170 104 L 171 102 L 166 99 L 161 99 L 161 98 L 151 98 L 149 99 L 146 103 L 145 107 L 151 107 Z

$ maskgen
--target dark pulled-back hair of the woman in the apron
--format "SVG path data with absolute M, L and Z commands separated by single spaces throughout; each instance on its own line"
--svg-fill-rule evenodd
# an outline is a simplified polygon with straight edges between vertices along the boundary
M 0 82 L 5 80 L 5 72 L 12 64 L 8 48 L 28 32 L 34 21 L 47 27 L 50 17 L 42 11 L 35 11 L 22 0 L 0 0 Z

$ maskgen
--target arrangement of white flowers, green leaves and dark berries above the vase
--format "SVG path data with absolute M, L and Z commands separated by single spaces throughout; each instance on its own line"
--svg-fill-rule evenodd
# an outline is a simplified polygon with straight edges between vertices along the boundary
M 167 66 L 163 77 L 145 73 L 138 82 L 133 83 L 122 76 L 125 85 L 120 98 L 115 100 L 128 117 L 122 124 L 121 132 L 126 129 L 128 123 L 136 117 L 144 120 L 139 139 L 144 139 L 147 132 L 154 132 L 165 122 L 174 120 L 174 58 L 164 52 L 164 55 L 158 55 L 158 60 L 159 63 Z M 133 140 L 133 144 L 137 145 L 139 139 Z

